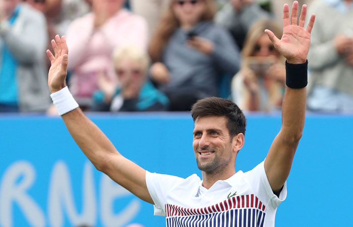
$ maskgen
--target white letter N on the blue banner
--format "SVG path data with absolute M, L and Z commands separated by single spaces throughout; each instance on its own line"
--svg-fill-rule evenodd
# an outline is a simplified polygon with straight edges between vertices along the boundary
M 62 205 L 66 208 L 69 220 L 73 225 L 86 223 L 94 225 L 96 222 L 96 201 L 93 184 L 92 164 L 86 162 L 83 174 L 83 204 L 82 213 L 78 214 L 74 205 L 71 180 L 68 167 L 63 161 L 55 163 L 49 185 L 48 215 L 49 223 L 53 227 L 63 226 L 64 215 Z

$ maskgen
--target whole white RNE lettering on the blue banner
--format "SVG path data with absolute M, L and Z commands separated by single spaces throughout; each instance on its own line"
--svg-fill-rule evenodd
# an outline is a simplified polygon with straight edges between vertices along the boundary
M 43 179 L 39 180 L 43 181 Z M 47 217 L 38 203 L 28 193 L 34 182 L 35 168 L 28 161 L 14 162 L 6 169 L 3 179 L 0 181 L 1 227 L 16 225 L 14 220 L 16 221 L 18 214 L 15 215 L 13 213 L 13 205 L 15 203 L 26 218 L 28 225 L 33 227 L 46 226 L 46 220 L 48 220 L 49 226 L 64 226 L 64 215 L 67 215 L 71 226 L 83 223 L 95 226 L 98 219 L 96 201 L 100 201 L 99 219 L 101 220 L 101 224 L 107 227 L 120 227 L 135 218 L 141 208 L 141 202 L 138 199 L 133 199 L 122 211 L 114 213 L 113 202 L 119 200 L 121 197 L 131 196 L 132 194 L 114 183 L 104 174 L 100 178 L 100 198 L 96 200 L 93 167 L 88 161 L 85 163 L 83 171 L 82 211 L 80 214 L 78 214 L 75 206 L 70 174 L 68 166 L 64 161 L 57 161 L 51 172 L 47 200 Z M 44 197 L 46 196 L 46 192 L 46 189 L 41 189 L 40 192 L 37 191 L 36 193 Z M 45 206 L 45 204 L 41 205 Z

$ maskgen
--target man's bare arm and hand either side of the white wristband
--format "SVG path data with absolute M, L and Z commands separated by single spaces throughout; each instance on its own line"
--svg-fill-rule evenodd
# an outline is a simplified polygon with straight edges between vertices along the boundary
M 48 85 L 51 93 L 55 93 L 66 86 L 68 48 L 65 37 L 60 38 L 58 35 L 55 41 L 52 40 L 52 45 L 55 55 L 47 50 L 51 62 Z M 137 197 L 153 204 L 146 185 L 145 169 L 121 155 L 80 108 L 63 114 L 62 118 L 77 145 L 99 171 Z

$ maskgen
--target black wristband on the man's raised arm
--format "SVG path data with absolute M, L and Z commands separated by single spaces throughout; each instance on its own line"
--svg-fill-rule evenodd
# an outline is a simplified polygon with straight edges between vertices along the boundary
M 308 85 L 308 60 L 302 64 L 289 64 L 285 61 L 285 84 L 295 89 Z

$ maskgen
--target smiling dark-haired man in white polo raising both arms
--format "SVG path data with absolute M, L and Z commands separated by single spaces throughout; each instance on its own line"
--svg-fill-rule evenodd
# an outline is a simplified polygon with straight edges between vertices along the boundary
M 244 145 L 246 120 L 239 107 L 222 98 L 199 100 L 192 108 L 194 153 L 202 180 L 152 174 L 121 155 L 78 108 L 65 84 L 68 48 L 65 37 L 52 40 L 48 85 L 51 97 L 81 150 L 94 166 L 142 200 L 154 204 L 166 226 L 274 226 L 277 206 L 286 197 L 286 179 L 305 122 L 307 54 L 312 15 L 305 29 L 307 7 L 297 25 L 298 2 L 283 7 L 283 36 L 265 30 L 285 56 L 286 90 L 282 127 L 266 159 L 249 172 L 235 171 Z

